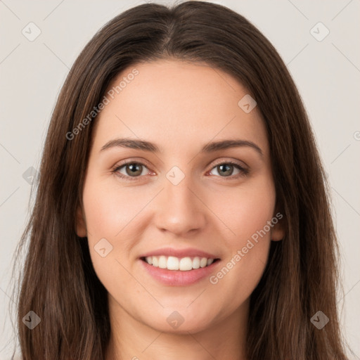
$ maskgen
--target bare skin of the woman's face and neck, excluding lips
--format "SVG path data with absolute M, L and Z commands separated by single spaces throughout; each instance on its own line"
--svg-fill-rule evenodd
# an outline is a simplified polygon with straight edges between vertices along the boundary
M 139 75 L 96 119 L 77 212 L 77 235 L 87 236 L 94 269 L 108 290 L 112 335 L 105 359 L 246 359 L 250 295 L 271 240 L 284 236 L 281 221 L 215 285 L 209 277 L 187 286 L 163 285 L 139 257 L 165 247 L 196 248 L 221 259 L 216 275 L 275 217 L 264 122 L 256 107 L 245 113 L 238 106 L 247 89 L 219 69 L 158 60 L 131 66 L 111 86 L 133 68 Z M 121 137 L 150 141 L 161 151 L 101 151 Z M 200 153 L 206 143 L 225 139 L 252 141 L 263 155 L 250 146 Z M 137 181 L 112 172 L 123 160 L 143 164 Z M 238 176 L 240 170 L 228 165 L 226 176 L 218 160 L 233 160 L 249 173 Z M 166 177 L 174 166 L 185 175 L 178 185 Z M 131 169 L 124 166 L 119 173 L 131 176 Z M 105 257 L 94 250 L 101 238 L 113 246 Z M 173 311 L 184 318 L 178 328 L 167 322 Z

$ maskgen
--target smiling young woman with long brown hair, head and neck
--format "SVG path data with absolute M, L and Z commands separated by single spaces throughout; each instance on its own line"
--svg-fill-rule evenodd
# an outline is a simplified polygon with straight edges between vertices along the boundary
M 274 47 L 224 6 L 143 4 L 89 41 L 27 238 L 24 360 L 346 359 L 307 114 Z

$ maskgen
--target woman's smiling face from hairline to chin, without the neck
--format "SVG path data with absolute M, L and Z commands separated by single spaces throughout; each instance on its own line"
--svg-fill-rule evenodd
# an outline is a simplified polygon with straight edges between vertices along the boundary
M 179 333 L 245 314 L 283 237 L 256 103 L 225 72 L 178 60 L 131 66 L 105 96 L 77 234 L 111 314 Z

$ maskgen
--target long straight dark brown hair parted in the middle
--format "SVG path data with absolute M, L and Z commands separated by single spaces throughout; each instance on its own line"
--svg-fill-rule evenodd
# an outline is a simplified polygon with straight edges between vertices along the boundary
M 274 46 L 225 6 L 143 4 L 107 23 L 75 61 L 53 111 L 18 279 L 17 326 L 24 360 L 101 360 L 110 338 L 107 292 L 86 240 L 75 232 L 96 116 L 67 136 L 130 65 L 157 59 L 207 63 L 255 97 L 268 134 L 276 205 L 286 236 L 250 300 L 249 360 L 346 359 L 337 314 L 338 248 L 326 174 L 293 79 Z M 144 125 L 148 126 L 148 125 Z M 72 139 L 69 139 L 72 137 Z M 30 330 L 23 317 L 41 323 Z M 321 330 L 311 317 L 330 321 Z

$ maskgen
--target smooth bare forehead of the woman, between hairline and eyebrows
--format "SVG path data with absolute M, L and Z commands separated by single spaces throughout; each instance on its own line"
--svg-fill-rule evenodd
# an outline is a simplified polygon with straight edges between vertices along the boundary
M 259 111 L 245 113 L 238 105 L 249 96 L 247 89 L 210 65 L 181 60 L 134 64 L 115 77 L 105 96 L 109 102 L 96 119 L 95 146 L 117 136 L 146 139 L 160 148 L 246 139 L 266 153 Z

